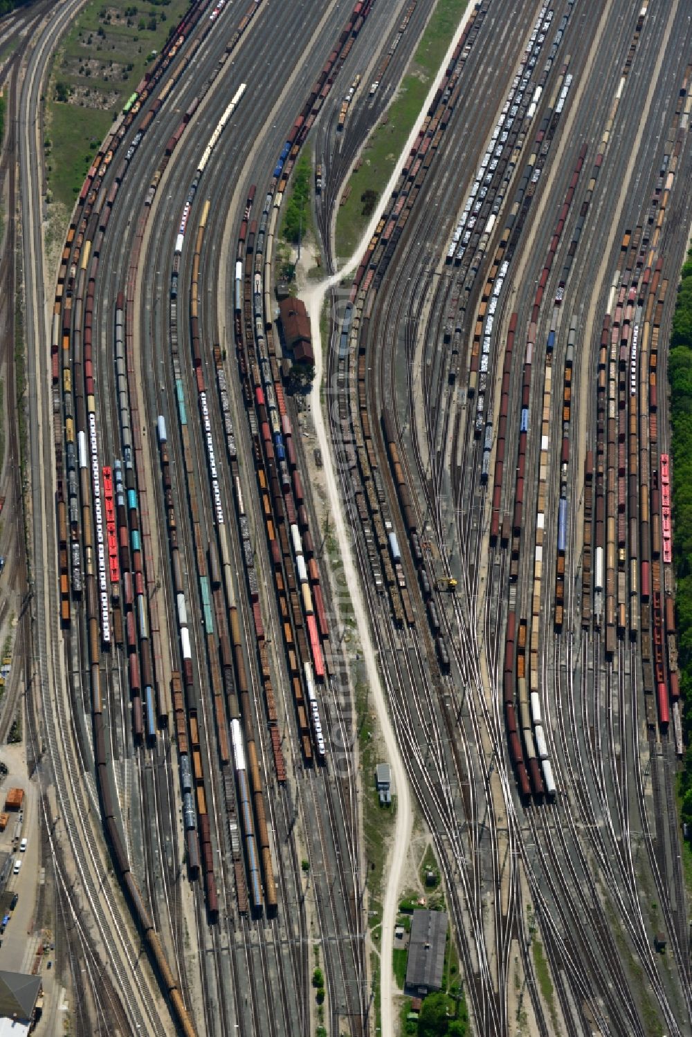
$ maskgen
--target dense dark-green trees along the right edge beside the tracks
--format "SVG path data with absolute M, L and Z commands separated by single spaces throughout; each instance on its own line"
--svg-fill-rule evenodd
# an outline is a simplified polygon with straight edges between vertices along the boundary
M 677 645 L 683 737 L 688 746 L 681 776 L 683 820 L 692 824 L 692 248 L 683 267 L 668 357 L 672 425 L 673 562 L 677 593 Z M 689 844 L 685 847 L 690 857 Z

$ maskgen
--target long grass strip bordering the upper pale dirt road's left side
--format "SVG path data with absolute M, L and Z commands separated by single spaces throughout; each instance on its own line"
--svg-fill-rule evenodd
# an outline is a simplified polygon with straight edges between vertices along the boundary
M 438 0 L 396 99 L 371 134 L 363 164 L 351 177 L 351 194 L 336 217 L 336 255 L 348 259 L 360 241 L 380 193 L 389 181 L 459 26 L 467 0 Z M 347 119 L 344 133 L 349 132 Z

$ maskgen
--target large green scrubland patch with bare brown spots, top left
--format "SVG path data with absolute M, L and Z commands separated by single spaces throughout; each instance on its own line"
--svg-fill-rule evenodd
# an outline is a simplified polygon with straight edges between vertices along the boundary
M 84 7 L 56 55 L 48 90 L 53 200 L 72 209 L 93 152 L 189 6 L 190 0 L 91 0 Z

